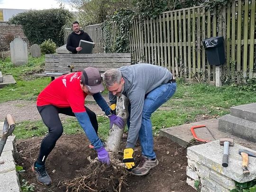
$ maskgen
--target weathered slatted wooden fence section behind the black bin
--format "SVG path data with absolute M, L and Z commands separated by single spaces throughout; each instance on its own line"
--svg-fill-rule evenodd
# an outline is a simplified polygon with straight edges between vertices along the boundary
M 222 9 L 198 6 L 134 20 L 132 61 L 164 66 L 187 81 L 215 83 L 217 67 L 207 63 L 202 40 L 223 36 L 227 61 L 220 67 L 222 81 L 256 77 L 255 1 L 235 0 Z

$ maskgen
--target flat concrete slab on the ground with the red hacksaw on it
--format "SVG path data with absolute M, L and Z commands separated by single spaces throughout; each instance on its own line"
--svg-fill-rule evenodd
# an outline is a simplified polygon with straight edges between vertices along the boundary
M 233 136 L 229 133 L 224 133 L 218 129 L 218 124 L 219 124 L 218 119 L 209 119 L 209 120 L 184 124 L 180 126 L 175 126 L 171 128 L 164 128 L 160 130 L 160 136 L 167 137 L 172 141 L 178 143 L 180 146 L 187 147 L 188 144 L 194 138 L 192 136 L 190 128 L 196 125 L 206 125 L 216 139 L 219 139 L 222 137 L 233 138 L 237 144 L 242 146 L 247 146 L 248 148 L 256 150 L 256 143 Z M 214 140 L 214 138 L 211 137 L 209 131 L 207 131 L 206 128 L 197 128 L 195 129 L 195 132 L 197 134 L 197 137 L 199 138 L 208 139 L 211 141 Z

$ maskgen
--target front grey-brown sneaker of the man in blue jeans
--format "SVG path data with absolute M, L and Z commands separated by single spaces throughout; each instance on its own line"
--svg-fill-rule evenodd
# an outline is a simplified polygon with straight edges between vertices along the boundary
M 131 171 L 132 171 L 132 174 L 134 175 L 138 175 L 138 176 L 146 175 L 148 174 L 151 168 L 155 167 L 158 164 L 159 162 L 156 158 L 155 160 L 151 160 L 151 159 L 148 159 L 146 156 L 141 155 L 141 160 L 139 162 L 139 165 L 136 168 L 132 169 Z

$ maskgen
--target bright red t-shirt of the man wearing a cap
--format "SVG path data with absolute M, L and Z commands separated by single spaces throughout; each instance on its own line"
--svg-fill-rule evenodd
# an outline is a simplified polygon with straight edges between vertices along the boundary
M 82 72 L 70 73 L 55 79 L 40 92 L 37 106 L 71 107 L 74 113 L 85 112 L 84 99 L 87 94 L 80 86 L 81 74 Z

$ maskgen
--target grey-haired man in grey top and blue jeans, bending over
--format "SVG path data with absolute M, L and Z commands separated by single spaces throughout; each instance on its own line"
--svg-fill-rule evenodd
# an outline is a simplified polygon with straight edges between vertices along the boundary
M 135 175 L 146 175 L 158 165 L 154 152 L 151 115 L 168 101 L 176 90 L 173 74 L 166 68 L 152 64 L 135 64 L 110 69 L 103 74 L 103 81 L 110 91 L 110 103 L 116 96 L 128 97 L 130 117 L 128 138 L 123 162 Z M 142 156 L 135 167 L 133 148 L 139 138 Z

